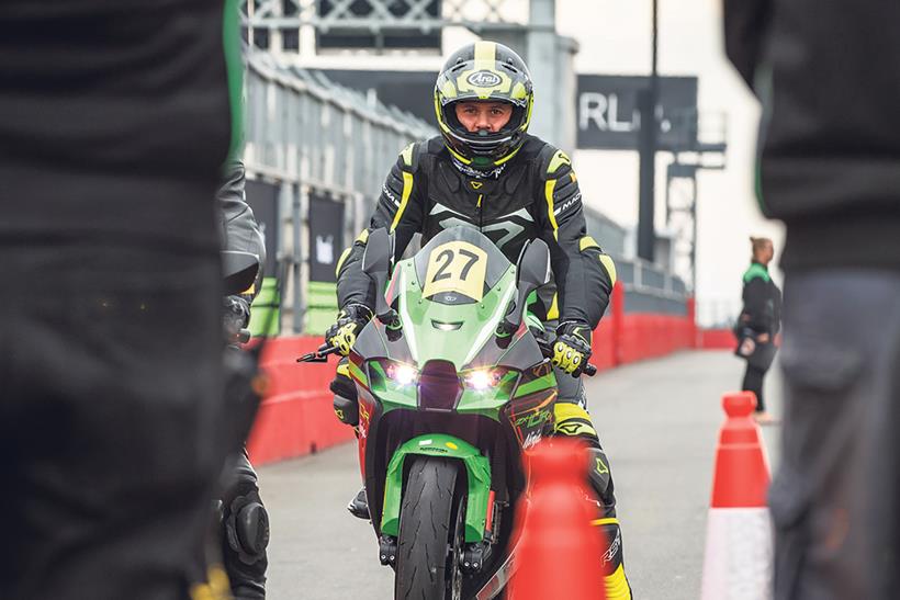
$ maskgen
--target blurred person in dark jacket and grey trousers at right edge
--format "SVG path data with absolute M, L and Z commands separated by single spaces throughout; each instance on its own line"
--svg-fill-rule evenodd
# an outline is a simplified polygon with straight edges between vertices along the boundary
M 787 225 L 776 600 L 900 598 L 900 2 L 725 0 Z

